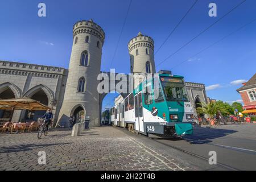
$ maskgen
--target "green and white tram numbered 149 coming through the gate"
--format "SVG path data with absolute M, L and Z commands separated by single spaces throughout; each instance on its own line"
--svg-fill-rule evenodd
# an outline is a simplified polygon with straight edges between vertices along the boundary
M 143 92 L 147 86 L 154 89 L 152 78 L 139 84 L 133 93 L 112 107 L 113 125 L 144 135 L 192 134 L 194 111 L 185 90 L 183 76 L 165 71 L 158 78 L 157 98 L 153 92 Z

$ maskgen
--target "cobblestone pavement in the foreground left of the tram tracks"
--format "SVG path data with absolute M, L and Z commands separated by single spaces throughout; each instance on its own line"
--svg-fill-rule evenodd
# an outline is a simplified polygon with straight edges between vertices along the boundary
M 1 170 L 189 170 L 179 159 L 138 142 L 115 127 L 97 127 L 71 137 L 71 131 L 0 135 Z M 46 165 L 38 152 L 46 152 Z

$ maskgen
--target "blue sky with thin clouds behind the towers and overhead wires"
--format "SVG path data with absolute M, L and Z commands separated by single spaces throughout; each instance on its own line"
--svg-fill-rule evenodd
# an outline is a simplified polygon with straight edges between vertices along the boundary
M 44 18 L 38 17 L 40 2 L 47 6 L 47 16 Z M 112 68 L 116 72 L 129 73 L 129 40 L 141 31 L 155 40 L 155 50 L 158 49 L 193 2 L 195 0 L 133 0 L 113 59 L 130 1 L 1 1 L 0 59 L 68 68 L 72 26 L 78 20 L 92 18 L 106 34 L 101 70 L 109 71 L 113 59 Z M 211 2 L 217 4 L 217 17 L 208 15 Z M 183 75 L 185 81 L 203 83 L 207 86 L 208 97 L 228 102 L 241 100 L 236 89 L 255 73 L 256 21 L 198 55 L 193 55 L 255 19 L 254 0 L 247 0 L 158 65 L 240 2 L 242 0 L 199 0 L 156 53 L 156 71 L 170 69 L 176 75 Z M 117 94 L 108 94 L 103 107 L 113 103 L 115 96 Z

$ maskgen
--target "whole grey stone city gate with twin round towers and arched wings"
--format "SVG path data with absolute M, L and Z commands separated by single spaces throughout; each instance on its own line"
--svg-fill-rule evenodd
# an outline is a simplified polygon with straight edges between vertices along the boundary
M 67 127 L 70 114 L 75 115 L 76 122 L 88 120 L 90 127 L 100 126 L 101 105 L 106 93 L 98 93 L 97 76 L 101 73 L 104 40 L 104 30 L 98 24 L 92 19 L 83 20 L 73 26 L 68 69 L 0 61 L 0 99 L 29 97 L 42 102 L 52 108 L 56 127 Z M 131 73 L 156 72 L 152 38 L 139 33 L 129 41 L 128 49 Z M 185 85 L 195 108 L 198 102 L 207 102 L 204 84 L 186 82 Z M 121 96 L 127 94 L 121 93 Z M 13 121 L 36 121 L 43 114 L 44 111 L 16 110 Z M 0 110 L 0 118 L 9 117 L 10 111 Z

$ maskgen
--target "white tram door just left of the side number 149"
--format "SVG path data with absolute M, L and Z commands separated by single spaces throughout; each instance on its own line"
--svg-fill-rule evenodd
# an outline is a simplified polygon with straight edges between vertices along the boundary
M 141 92 L 134 97 L 135 104 L 135 130 L 144 132 L 143 125 L 143 106 Z

